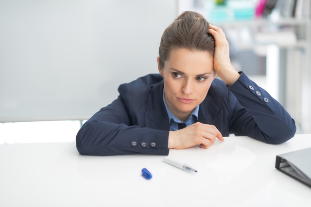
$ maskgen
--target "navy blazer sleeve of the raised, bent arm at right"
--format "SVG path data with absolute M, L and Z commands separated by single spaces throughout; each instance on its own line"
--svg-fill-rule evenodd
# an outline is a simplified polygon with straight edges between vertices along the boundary
M 229 122 L 230 133 L 271 144 L 284 143 L 294 137 L 296 126 L 290 114 L 268 92 L 244 73 L 240 74 L 232 86 L 227 86 L 235 96 L 229 94 L 229 99 L 238 100 Z

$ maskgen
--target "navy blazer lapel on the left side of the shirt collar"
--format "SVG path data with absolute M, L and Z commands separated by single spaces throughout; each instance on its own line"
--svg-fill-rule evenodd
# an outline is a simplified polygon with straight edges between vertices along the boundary
M 151 86 L 146 112 L 146 127 L 170 130 L 169 117 L 163 103 L 163 80 Z

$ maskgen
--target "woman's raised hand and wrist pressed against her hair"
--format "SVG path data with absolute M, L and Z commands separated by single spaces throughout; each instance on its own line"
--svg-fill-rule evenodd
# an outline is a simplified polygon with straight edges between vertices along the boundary
M 209 25 L 208 33 L 215 39 L 214 69 L 219 77 L 231 86 L 240 77 L 240 74 L 232 67 L 229 57 L 229 43 L 223 29 L 215 25 Z

